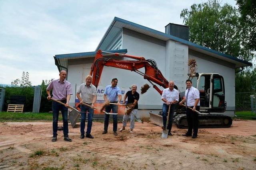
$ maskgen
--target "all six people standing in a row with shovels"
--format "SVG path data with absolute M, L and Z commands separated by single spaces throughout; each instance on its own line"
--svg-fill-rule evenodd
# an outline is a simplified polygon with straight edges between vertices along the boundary
M 53 122 L 52 122 L 52 129 L 53 129 L 53 137 L 52 142 L 57 140 L 57 131 L 58 131 L 58 117 L 59 111 L 62 113 L 63 119 L 63 134 L 64 140 L 71 142 L 72 139 L 68 137 L 68 106 L 70 101 L 70 95 L 72 95 L 72 88 L 70 82 L 66 80 L 67 72 L 65 70 L 60 71 L 59 74 L 60 78 L 57 80 L 52 80 L 48 87 L 46 88 L 46 92 L 48 94 L 47 99 L 51 100 L 51 98 L 58 100 L 65 104 L 62 105 L 58 102 L 52 101 L 52 112 L 53 112 Z M 111 85 L 106 86 L 104 91 L 104 100 L 105 102 L 110 102 L 110 104 L 105 107 L 105 111 L 107 113 L 118 113 L 118 104 L 120 104 L 122 100 L 121 96 L 121 89 L 117 86 L 118 79 L 113 78 L 111 81 Z M 182 105 L 186 102 L 186 116 L 188 121 L 188 131 L 187 133 L 183 134 L 183 136 L 192 136 L 192 138 L 197 137 L 198 133 L 198 115 L 195 112 L 196 110 L 199 111 L 200 109 L 200 101 L 199 101 L 199 90 L 192 86 L 191 80 L 186 80 L 187 90 L 185 92 L 185 96 L 183 100 L 179 103 Z M 52 90 L 52 96 L 50 95 L 50 90 Z M 123 131 L 126 127 L 126 123 L 130 116 L 130 133 L 134 129 L 134 121 L 136 118 L 136 114 L 138 111 L 138 100 L 140 95 L 136 92 L 137 86 L 133 84 L 131 86 L 131 90 L 126 92 L 123 100 L 123 104 L 125 104 L 126 98 L 128 98 L 127 104 L 134 104 L 134 109 L 130 113 L 130 115 L 124 115 L 123 117 L 123 127 L 120 129 L 120 132 Z M 92 118 L 94 114 L 94 104 L 97 99 L 97 89 L 92 84 L 92 76 L 86 76 L 85 83 L 82 83 L 78 91 L 76 93 L 78 100 L 80 101 L 80 109 L 81 109 L 81 122 L 80 122 L 80 138 L 84 139 L 84 137 L 88 137 L 93 139 L 94 137 L 91 135 L 92 129 Z M 168 135 L 172 135 L 172 119 L 175 110 L 175 104 L 179 102 L 179 92 L 174 88 L 174 81 L 169 82 L 169 87 L 164 89 L 162 92 L 162 101 L 164 102 L 162 107 L 162 117 L 163 117 L 163 127 L 162 129 L 165 130 L 166 128 L 169 130 Z M 84 105 L 85 104 L 85 105 Z M 189 109 L 188 107 L 192 108 Z M 169 119 L 167 120 L 168 111 Z M 87 130 L 85 136 L 85 121 L 86 121 L 86 113 L 88 112 L 88 123 L 87 123 Z M 109 114 L 105 114 L 104 120 L 104 131 L 102 134 L 108 133 L 108 124 L 109 124 Z M 166 127 L 166 122 L 168 121 L 168 126 Z M 117 115 L 113 114 L 113 134 L 117 134 Z M 192 134 L 193 130 L 193 134 Z

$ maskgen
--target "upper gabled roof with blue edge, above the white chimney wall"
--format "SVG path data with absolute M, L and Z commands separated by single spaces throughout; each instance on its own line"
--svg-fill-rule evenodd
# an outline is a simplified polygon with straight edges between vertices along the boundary
M 98 49 L 106 50 L 108 48 L 108 45 L 116 38 L 116 36 L 119 35 L 119 33 L 122 31 L 122 28 L 127 28 L 157 39 L 161 39 L 164 41 L 168 41 L 169 39 L 173 41 L 177 41 L 180 43 L 183 43 L 185 45 L 188 45 L 188 49 L 198 51 L 200 53 L 221 59 L 223 61 L 227 61 L 229 63 L 235 64 L 236 68 L 244 67 L 244 66 L 251 66 L 252 63 L 249 63 L 247 61 L 238 59 L 236 57 L 232 57 L 231 55 L 227 55 L 224 53 L 220 53 L 219 51 L 215 51 L 206 47 L 203 47 L 201 45 L 198 45 L 196 43 L 192 43 L 190 41 L 186 41 L 184 39 L 180 39 L 178 37 L 175 37 L 173 35 L 169 35 L 160 31 L 157 31 L 155 29 L 151 29 L 149 27 L 145 27 L 143 25 L 139 25 L 137 23 L 133 23 L 127 20 L 123 20 L 121 18 L 115 17 L 110 26 L 108 27 L 108 30 L 104 34 L 103 38 L 101 39 L 98 47 L 96 48 L 96 51 Z

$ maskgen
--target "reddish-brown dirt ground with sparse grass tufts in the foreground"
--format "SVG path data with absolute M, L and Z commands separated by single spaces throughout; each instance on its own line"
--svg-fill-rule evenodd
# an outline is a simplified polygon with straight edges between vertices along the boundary
M 173 125 L 173 136 L 161 139 L 152 123 L 135 124 L 114 136 L 112 123 L 94 122 L 94 139 L 80 139 L 80 125 L 69 126 L 72 142 L 51 142 L 51 122 L 0 123 L 0 169 L 255 169 L 256 121 L 233 121 L 230 128 L 200 129 L 198 138 L 184 137 Z M 61 125 L 61 122 L 59 123 Z M 118 129 L 122 123 L 118 123 Z M 42 151 L 42 152 L 41 152 Z

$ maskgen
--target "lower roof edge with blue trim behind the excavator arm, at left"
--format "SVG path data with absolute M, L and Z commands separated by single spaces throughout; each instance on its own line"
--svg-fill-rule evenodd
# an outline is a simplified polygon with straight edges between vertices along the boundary
M 120 49 L 120 50 L 108 50 L 106 52 L 110 53 L 127 53 L 127 49 Z M 88 58 L 94 58 L 96 55 L 96 51 L 92 52 L 86 52 L 86 53 L 71 53 L 71 54 L 60 54 L 55 55 L 55 65 L 58 67 L 58 70 L 68 70 L 68 60 L 71 59 L 88 59 Z M 104 56 L 111 56 L 112 54 L 108 54 L 103 52 Z

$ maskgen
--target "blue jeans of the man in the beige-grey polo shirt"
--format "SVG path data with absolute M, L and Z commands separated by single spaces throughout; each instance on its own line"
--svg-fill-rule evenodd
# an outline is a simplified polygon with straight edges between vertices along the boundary
M 85 128 L 85 120 L 86 120 L 86 111 L 88 111 L 88 123 L 87 123 L 87 130 L 86 134 L 89 135 L 92 130 L 92 117 L 94 113 L 94 109 L 88 106 L 81 105 L 81 123 L 80 123 L 80 132 L 81 135 L 84 135 L 84 128 Z M 83 113 L 84 112 L 84 113 Z

